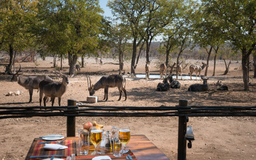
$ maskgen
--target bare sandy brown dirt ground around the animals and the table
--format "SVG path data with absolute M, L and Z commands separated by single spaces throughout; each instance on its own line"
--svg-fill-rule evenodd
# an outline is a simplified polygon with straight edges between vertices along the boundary
M 52 58 L 46 61 L 37 60 L 36 63 L 21 63 L 24 76 L 49 75 L 55 81 L 61 81 L 59 71 L 51 68 Z M 118 74 L 118 65 L 96 64 L 94 58 L 88 58 L 86 67 L 81 68 L 81 74 L 70 78 L 68 90 L 62 97 L 62 106 L 67 105 L 68 99 L 76 99 L 80 104 L 86 104 L 89 95 L 85 74 L 90 75 L 92 84 L 96 83 L 102 75 Z M 105 62 L 113 60 L 103 59 Z M 154 61 L 154 60 L 152 60 Z M 137 73 L 145 72 L 145 60 L 141 59 L 136 69 Z M 192 64 L 201 61 L 191 60 Z M 151 62 L 151 70 L 159 73 L 158 68 Z M 58 62 L 60 66 L 60 62 Z M 97 104 L 101 106 L 175 106 L 179 99 L 188 100 L 192 105 L 234 105 L 252 106 L 256 104 L 256 86 L 250 86 L 250 91 L 244 91 L 241 62 L 232 61 L 230 71 L 223 76 L 224 61 L 218 60 L 216 76 L 211 77 L 213 62 L 208 68 L 207 92 L 188 92 L 188 86 L 200 81 L 180 80 L 181 88 L 168 92 L 157 92 L 156 86 L 162 80 L 145 80 L 126 78 L 127 100 L 122 96 L 118 100 L 119 92 L 116 88 L 109 89 L 108 102 L 103 101 L 104 90 L 98 90 Z M 4 64 L 0 72 L 4 72 Z M 16 64 L 18 70 L 18 64 Z M 130 72 L 130 63 L 124 64 L 124 70 Z M 204 74 L 202 71 L 202 75 Z M 68 62 L 64 61 L 64 70 L 68 73 Z M 188 74 L 188 67 L 183 71 Z M 256 83 L 250 72 L 250 82 Z M 32 103 L 28 104 L 29 92 L 17 82 L 10 82 L 11 76 L 0 74 L 0 106 L 38 106 L 39 93 L 34 90 Z M 229 87 L 229 91 L 217 91 L 214 83 L 222 80 Z M 202 83 L 202 82 L 201 82 Z M 5 96 L 12 91 L 23 91 L 19 96 Z M 50 106 L 50 102 L 47 104 Z M 58 101 L 55 100 L 55 106 Z M 177 159 L 178 147 L 178 117 L 149 117 L 149 118 L 109 118 L 109 117 L 77 117 L 76 128 L 81 128 L 85 122 L 95 120 L 104 128 L 110 130 L 112 126 L 129 126 L 132 134 L 145 134 L 170 160 Z M 187 148 L 188 160 L 255 160 L 256 159 L 256 118 L 255 117 L 190 117 L 188 125 L 192 125 L 195 140 L 192 148 Z M 66 135 L 66 117 L 33 117 L 10 118 L 0 120 L 0 160 L 24 160 L 34 138 L 48 134 Z M 77 134 L 77 133 L 76 133 Z M 129 146 L 129 144 L 128 144 Z

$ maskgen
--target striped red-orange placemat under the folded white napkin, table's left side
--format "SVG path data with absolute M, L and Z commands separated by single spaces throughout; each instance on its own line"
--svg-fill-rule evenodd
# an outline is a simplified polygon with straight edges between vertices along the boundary
M 60 145 L 68 147 L 64 150 L 45 150 L 44 144 L 37 144 L 40 142 L 46 142 L 46 141 L 45 140 L 34 140 L 33 143 L 31 144 L 31 147 L 28 151 L 28 154 L 27 154 L 25 160 L 46 159 L 46 158 L 29 158 L 30 156 L 65 155 L 64 157 L 67 157 L 67 156 L 71 156 L 71 154 L 76 154 L 76 140 L 64 140 L 64 142 L 60 143 Z M 56 143 L 50 142 L 48 144 L 56 144 Z M 60 158 L 60 157 L 58 157 L 58 158 Z

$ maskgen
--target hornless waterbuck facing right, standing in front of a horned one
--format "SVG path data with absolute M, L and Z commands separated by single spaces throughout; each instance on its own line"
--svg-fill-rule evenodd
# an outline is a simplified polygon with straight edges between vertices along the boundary
M 54 104 L 55 97 L 58 97 L 58 102 L 60 106 L 60 101 L 62 95 L 66 92 L 67 86 L 69 84 L 69 76 L 60 73 L 62 76 L 62 82 L 54 82 L 52 80 L 43 80 L 39 83 L 39 102 L 41 106 L 42 97 L 44 94 L 44 106 L 46 106 L 46 100 L 51 97 L 52 106 Z

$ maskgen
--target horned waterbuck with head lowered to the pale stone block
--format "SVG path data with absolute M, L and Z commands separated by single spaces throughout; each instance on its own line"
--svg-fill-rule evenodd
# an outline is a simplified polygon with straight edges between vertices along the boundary
M 94 85 L 91 84 L 90 76 L 86 75 L 86 77 L 87 77 L 88 90 L 89 90 L 90 96 L 94 95 L 96 90 L 99 90 L 100 88 L 104 88 L 103 100 L 105 100 L 105 98 L 106 98 L 106 101 L 107 101 L 108 100 L 108 88 L 109 87 L 110 88 L 117 87 L 119 90 L 119 93 L 120 93 L 118 101 L 121 99 L 122 91 L 124 91 L 124 95 L 125 95 L 124 101 L 126 101 L 126 90 L 125 90 L 126 79 L 122 75 L 112 74 L 110 76 L 103 76 Z M 89 86 L 89 82 L 88 82 L 88 77 L 90 79 L 90 86 Z

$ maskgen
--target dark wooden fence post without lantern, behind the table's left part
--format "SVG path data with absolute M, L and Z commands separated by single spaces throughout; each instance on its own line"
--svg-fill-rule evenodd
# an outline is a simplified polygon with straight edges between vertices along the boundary
M 68 106 L 76 106 L 76 100 L 68 100 Z M 76 117 L 67 116 L 67 137 L 76 136 Z

